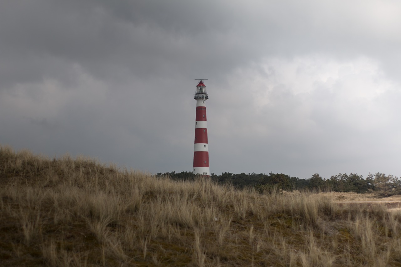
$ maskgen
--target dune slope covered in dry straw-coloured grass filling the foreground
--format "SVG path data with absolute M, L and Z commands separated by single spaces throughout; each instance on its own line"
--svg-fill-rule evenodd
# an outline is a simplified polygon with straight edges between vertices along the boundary
M 2 266 L 401 266 L 401 214 L 339 193 L 259 195 L 9 147 L 0 184 Z

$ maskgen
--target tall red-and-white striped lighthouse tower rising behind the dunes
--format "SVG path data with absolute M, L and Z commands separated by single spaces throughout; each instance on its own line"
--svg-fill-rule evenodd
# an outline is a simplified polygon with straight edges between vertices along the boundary
M 209 146 L 207 144 L 207 121 L 206 121 L 206 104 L 208 99 L 206 85 L 203 80 L 199 80 L 196 85 L 196 119 L 195 119 L 195 145 L 194 145 L 194 174 L 210 176 L 209 170 Z

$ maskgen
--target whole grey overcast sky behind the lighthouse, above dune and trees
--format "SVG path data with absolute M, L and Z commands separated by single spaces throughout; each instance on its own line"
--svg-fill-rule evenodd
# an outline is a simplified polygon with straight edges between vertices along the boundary
M 0 144 L 192 171 L 401 176 L 401 1 L 0 3 Z

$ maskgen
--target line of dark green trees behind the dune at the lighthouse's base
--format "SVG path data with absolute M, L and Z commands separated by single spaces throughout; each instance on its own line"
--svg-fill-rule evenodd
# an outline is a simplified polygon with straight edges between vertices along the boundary
M 192 172 L 166 172 L 158 173 L 156 177 L 168 176 L 173 180 L 193 180 L 196 178 Z M 377 172 L 369 173 L 363 177 L 360 174 L 336 174 L 328 179 L 319 174 L 312 175 L 309 179 L 300 179 L 287 174 L 256 174 L 223 172 L 221 175 L 212 173 L 211 179 L 219 184 L 232 184 L 235 188 L 255 188 L 260 193 L 270 193 L 276 190 L 319 190 L 335 192 L 376 192 L 382 196 L 401 194 L 401 180 L 393 175 Z

